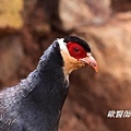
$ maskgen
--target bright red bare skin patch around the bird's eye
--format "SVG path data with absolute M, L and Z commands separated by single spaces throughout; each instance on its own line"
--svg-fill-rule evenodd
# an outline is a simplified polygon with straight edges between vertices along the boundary
M 74 57 L 78 60 L 87 56 L 87 52 L 84 50 L 84 48 L 76 43 L 69 41 L 67 47 L 71 57 Z

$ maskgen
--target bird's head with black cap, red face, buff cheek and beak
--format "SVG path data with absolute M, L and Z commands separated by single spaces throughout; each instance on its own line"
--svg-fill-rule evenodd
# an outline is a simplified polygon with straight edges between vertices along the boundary
M 76 36 L 68 36 L 58 39 L 58 44 L 64 62 L 63 72 L 66 75 L 85 66 L 91 66 L 98 72 L 97 62 L 93 58 L 91 48 L 85 40 Z

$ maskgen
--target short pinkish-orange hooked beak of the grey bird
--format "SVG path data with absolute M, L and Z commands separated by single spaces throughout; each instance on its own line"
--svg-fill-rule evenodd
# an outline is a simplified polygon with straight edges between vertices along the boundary
M 81 60 L 91 66 L 96 72 L 98 72 L 97 62 L 91 53 L 87 52 L 87 57 L 82 58 Z

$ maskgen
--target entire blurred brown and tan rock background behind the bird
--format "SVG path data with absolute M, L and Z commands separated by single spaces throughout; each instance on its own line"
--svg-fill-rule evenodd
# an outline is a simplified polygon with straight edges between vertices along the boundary
M 0 88 L 33 71 L 59 37 L 84 38 L 98 62 L 70 76 L 59 131 L 131 131 L 131 0 L 0 0 Z

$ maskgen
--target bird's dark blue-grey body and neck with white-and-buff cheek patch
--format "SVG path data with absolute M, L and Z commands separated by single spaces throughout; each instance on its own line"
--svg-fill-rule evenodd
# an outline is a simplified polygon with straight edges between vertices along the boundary
M 85 66 L 70 56 L 64 40 L 55 40 L 25 80 L 0 92 L 0 131 L 58 131 L 68 76 Z

